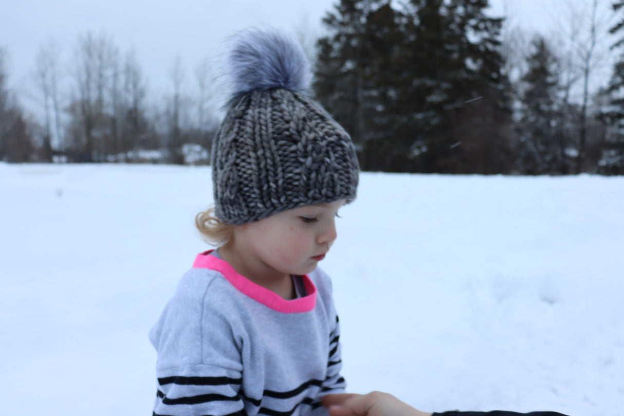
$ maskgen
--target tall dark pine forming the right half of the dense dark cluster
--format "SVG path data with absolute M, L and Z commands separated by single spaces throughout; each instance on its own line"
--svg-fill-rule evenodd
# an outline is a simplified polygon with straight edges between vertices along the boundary
M 407 9 L 420 113 L 415 162 L 426 172 L 497 173 L 509 167 L 510 84 L 501 19 L 487 0 L 412 0 Z M 476 99 L 476 100 L 475 100 Z

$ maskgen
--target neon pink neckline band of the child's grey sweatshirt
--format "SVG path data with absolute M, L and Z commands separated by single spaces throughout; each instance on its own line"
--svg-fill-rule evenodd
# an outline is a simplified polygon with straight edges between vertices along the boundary
M 228 262 L 215 255 L 210 255 L 212 252 L 213 250 L 208 250 L 198 254 L 195 257 L 193 269 L 212 269 L 220 272 L 239 292 L 282 314 L 310 312 L 316 306 L 316 286 L 308 275 L 303 275 L 303 285 L 308 295 L 286 300 L 275 292 L 266 289 L 266 287 L 262 287 L 238 274 Z

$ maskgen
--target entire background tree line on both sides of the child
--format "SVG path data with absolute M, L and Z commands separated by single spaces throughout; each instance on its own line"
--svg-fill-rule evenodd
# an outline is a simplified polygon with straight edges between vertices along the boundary
M 608 19 L 604 1 L 582 3 L 567 2 L 557 39 L 489 16 L 487 0 L 339 0 L 308 51 L 313 94 L 367 171 L 624 174 L 624 1 Z M 605 54 L 619 58 L 592 89 Z M 69 67 L 46 44 L 32 72 L 44 110 L 34 119 L 6 87 L 4 56 L 0 160 L 208 162 L 218 93 L 206 63 L 190 96 L 177 59 L 155 105 L 136 54 L 110 37 L 79 37 Z M 71 88 L 61 92 L 63 76 Z

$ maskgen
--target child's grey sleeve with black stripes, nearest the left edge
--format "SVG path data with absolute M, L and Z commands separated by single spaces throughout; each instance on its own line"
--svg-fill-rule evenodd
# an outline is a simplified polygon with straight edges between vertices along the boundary
M 150 334 L 158 351 L 154 416 L 245 415 L 232 328 L 202 289 L 174 296 Z

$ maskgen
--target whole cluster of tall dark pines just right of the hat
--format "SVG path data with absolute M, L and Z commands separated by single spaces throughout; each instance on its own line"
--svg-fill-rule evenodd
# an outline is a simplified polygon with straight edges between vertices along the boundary
M 341 0 L 325 17 L 314 89 L 366 170 L 504 171 L 509 83 L 487 0 Z M 479 104 L 466 101 L 484 97 Z M 484 156 L 485 155 L 485 156 Z

